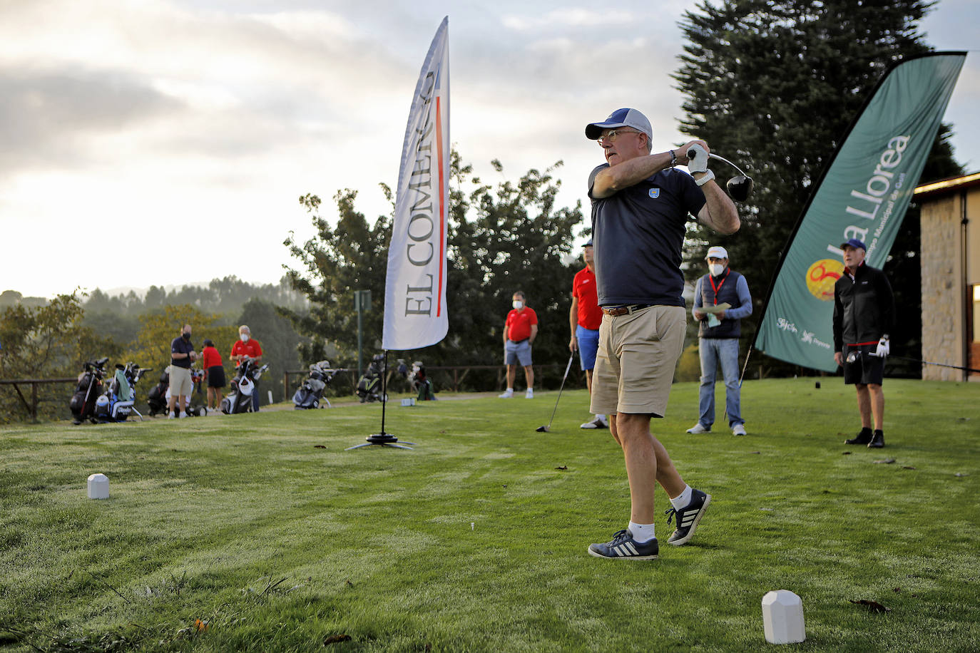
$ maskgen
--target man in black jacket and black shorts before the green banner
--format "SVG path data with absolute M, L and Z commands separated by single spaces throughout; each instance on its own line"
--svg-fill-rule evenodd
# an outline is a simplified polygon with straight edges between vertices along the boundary
M 885 396 L 881 382 L 888 334 L 895 320 L 892 286 L 885 274 L 864 262 L 867 248 L 857 238 L 841 244 L 844 274 L 834 284 L 834 360 L 844 367 L 844 383 L 855 384 L 861 430 L 846 444 L 885 445 Z M 874 431 L 871 431 L 871 418 Z

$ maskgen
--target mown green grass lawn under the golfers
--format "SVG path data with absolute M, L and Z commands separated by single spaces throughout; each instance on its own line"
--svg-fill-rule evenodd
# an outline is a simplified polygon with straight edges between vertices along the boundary
M 744 438 L 685 434 L 698 387 L 674 386 L 655 434 L 713 498 L 688 545 L 661 519 L 652 562 L 586 553 L 629 504 L 585 391 L 549 434 L 555 392 L 394 400 L 411 451 L 344 450 L 376 404 L 3 428 L 0 651 L 758 651 L 780 588 L 789 650 L 977 650 L 980 385 L 886 381 L 867 449 L 853 389 L 814 381 L 747 382 Z

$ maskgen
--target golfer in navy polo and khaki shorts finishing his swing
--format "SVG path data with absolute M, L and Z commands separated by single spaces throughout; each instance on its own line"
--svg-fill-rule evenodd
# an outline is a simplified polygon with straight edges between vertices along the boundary
M 603 321 L 593 374 L 593 413 L 610 414 L 610 430 L 622 447 L 629 480 L 628 528 L 611 541 L 592 544 L 600 558 L 652 560 L 654 490 L 666 490 L 676 517 L 667 543 L 694 535 L 711 495 L 693 490 L 650 431 L 662 417 L 674 366 L 684 344 L 686 311 L 681 292 L 681 246 L 688 214 L 722 234 L 738 231 L 735 205 L 714 183 L 708 144 L 691 141 L 651 154 L 650 120 L 619 109 L 585 127 L 599 141 L 606 162 L 589 175 L 596 280 Z M 674 169 L 687 163 L 691 174 Z M 693 176 L 692 176 L 693 175 Z

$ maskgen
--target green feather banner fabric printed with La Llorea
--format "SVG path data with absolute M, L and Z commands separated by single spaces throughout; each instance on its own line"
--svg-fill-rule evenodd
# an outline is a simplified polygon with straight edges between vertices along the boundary
M 834 282 L 841 243 L 867 245 L 880 268 L 932 148 L 965 52 L 937 52 L 889 70 L 810 195 L 766 299 L 755 347 L 833 372 Z

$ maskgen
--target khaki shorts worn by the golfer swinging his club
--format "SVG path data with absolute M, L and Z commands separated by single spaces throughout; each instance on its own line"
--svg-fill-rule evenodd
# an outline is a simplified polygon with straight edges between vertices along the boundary
M 604 313 L 590 411 L 662 417 L 684 349 L 686 320 L 683 306 L 650 306 L 615 317 Z

